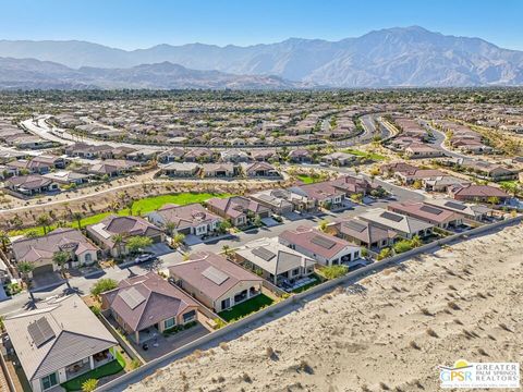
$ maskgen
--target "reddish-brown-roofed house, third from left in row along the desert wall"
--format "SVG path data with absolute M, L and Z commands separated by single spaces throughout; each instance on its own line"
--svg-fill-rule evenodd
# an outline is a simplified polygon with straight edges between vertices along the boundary
M 169 267 L 170 279 L 202 304 L 219 313 L 262 293 L 263 279 L 209 252 Z

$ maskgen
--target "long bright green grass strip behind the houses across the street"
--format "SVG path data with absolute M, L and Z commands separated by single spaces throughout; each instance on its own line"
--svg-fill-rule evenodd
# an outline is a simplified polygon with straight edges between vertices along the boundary
M 90 217 L 85 217 L 81 220 L 81 226 L 85 228 L 89 224 L 96 224 L 104 220 L 104 218 L 110 215 L 118 215 L 118 216 L 129 216 L 129 215 L 146 215 L 157 210 L 158 208 L 162 207 L 166 204 L 177 204 L 180 206 L 187 205 L 191 203 L 202 203 L 212 197 L 229 197 L 232 196 L 230 194 L 214 194 L 214 193 L 182 193 L 175 195 L 159 195 L 159 196 L 151 196 L 146 197 L 141 200 L 136 200 L 133 203 L 132 212 L 129 211 L 129 208 L 121 209 L 117 212 L 100 212 Z M 78 224 L 76 221 L 68 222 L 65 224 L 68 228 L 75 228 L 77 229 Z M 48 231 L 57 229 L 56 224 L 51 224 Z M 28 229 L 22 230 L 13 230 L 9 232 L 9 235 L 24 235 L 27 232 L 35 232 L 37 235 L 44 235 L 44 228 L 41 226 L 33 226 Z

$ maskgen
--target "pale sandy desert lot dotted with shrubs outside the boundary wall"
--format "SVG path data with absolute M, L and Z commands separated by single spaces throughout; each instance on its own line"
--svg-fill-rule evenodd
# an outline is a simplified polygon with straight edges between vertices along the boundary
M 521 362 L 522 238 L 519 225 L 411 260 L 129 390 L 436 391 L 440 364 Z

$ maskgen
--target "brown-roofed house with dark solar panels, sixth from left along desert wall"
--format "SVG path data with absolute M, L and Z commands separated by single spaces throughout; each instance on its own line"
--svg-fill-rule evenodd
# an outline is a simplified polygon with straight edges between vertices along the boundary
M 350 243 L 378 250 L 392 245 L 398 236 L 391 229 L 379 228 L 354 218 L 329 224 L 327 231 Z

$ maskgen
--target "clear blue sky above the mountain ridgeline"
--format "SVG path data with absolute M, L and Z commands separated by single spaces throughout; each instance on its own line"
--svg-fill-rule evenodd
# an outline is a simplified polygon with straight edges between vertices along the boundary
M 523 50 L 523 0 L 0 0 L 0 39 L 122 49 L 339 40 L 418 25 Z

